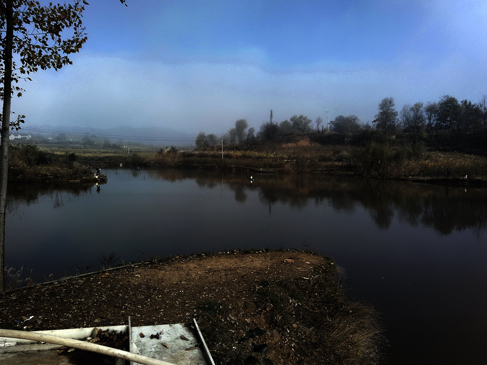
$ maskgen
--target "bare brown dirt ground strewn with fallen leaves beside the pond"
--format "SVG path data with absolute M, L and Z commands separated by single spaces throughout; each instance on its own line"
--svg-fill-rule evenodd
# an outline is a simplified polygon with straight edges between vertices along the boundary
M 186 322 L 205 301 L 253 299 L 256 282 L 307 276 L 325 262 L 289 251 L 178 256 L 0 294 L 0 323 L 10 327 L 33 316 L 23 326 L 41 330 L 121 325 L 129 316 L 134 326 Z

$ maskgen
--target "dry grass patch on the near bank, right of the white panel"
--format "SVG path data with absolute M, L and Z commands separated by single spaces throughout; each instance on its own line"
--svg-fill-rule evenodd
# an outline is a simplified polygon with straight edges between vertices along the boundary
M 372 307 L 345 297 L 338 273 L 328 263 L 308 278 L 256 283 L 255 302 L 201 306 L 202 329 L 217 364 L 242 364 L 249 356 L 261 364 L 267 356 L 274 364 L 379 364 L 383 337 L 377 314 Z M 253 326 L 250 322 L 236 326 L 232 317 L 249 309 L 255 318 L 263 318 L 267 333 L 241 343 Z M 268 347 L 265 356 L 255 352 L 254 345 L 259 344 Z

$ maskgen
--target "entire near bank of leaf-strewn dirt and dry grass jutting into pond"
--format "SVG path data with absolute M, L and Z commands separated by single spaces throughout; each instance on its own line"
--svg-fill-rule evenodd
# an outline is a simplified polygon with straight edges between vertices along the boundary
M 293 260 L 293 262 L 284 262 Z M 0 294 L 28 330 L 189 322 L 217 364 L 377 364 L 375 311 L 349 301 L 328 257 L 292 250 L 176 256 Z M 254 346 L 255 345 L 255 346 Z M 252 362 L 253 361 L 253 362 Z

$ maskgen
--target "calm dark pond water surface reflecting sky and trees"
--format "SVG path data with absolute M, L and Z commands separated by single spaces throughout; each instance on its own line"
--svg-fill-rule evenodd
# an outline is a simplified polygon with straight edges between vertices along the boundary
M 10 185 L 6 264 L 43 276 L 125 261 L 307 245 L 382 313 L 387 364 L 485 364 L 487 189 L 334 176 L 104 170 L 94 186 Z

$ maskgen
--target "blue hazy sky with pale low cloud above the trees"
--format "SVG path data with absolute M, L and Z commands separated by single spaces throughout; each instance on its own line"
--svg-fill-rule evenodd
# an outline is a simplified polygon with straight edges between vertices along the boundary
M 27 124 L 223 133 L 304 114 L 372 121 L 449 94 L 487 94 L 487 1 L 89 0 L 73 65 L 39 71 Z

